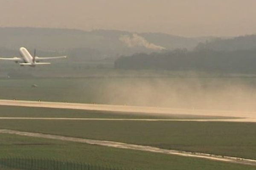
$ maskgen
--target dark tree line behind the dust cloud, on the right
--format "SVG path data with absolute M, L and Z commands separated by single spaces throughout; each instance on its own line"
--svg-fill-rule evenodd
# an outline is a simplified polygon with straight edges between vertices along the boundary
M 256 48 L 236 51 L 177 49 L 163 53 L 140 53 L 120 57 L 115 61 L 115 68 L 256 73 Z

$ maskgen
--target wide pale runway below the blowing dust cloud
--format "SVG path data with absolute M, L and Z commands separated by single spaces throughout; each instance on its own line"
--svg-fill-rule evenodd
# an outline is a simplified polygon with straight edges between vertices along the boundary
M 64 102 L 37 102 L 37 101 L 18 101 L 18 100 L 0 100 L 0 105 L 23 106 L 23 107 L 40 107 L 40 108 L 62 108 L 62 109 L 79 109 L 93 111 L 113 111 L 131 114 L 186 114 L 192 116 L 227 116 L 237 119 L 198 119 L 197 121 L 225 121 L 225 122 L 256 122 L 256 112 L 248 111 L 213 111 L 199 109 L 181 109 L 181 108 L 157 108 L 157 107 L 139 107 L 124 105 L 98 105 L 82 103 L 64 103 Z M 71 118 L 69 118 L 71 119 Z M 161 119 L 159 119 L 160 121 Z M 172 121 L 175 119 L 172 119 Z M 177 119 L 177 121 L 180 119 Z M 196 121 L 196 119 L 182 119 L 182 121 Z

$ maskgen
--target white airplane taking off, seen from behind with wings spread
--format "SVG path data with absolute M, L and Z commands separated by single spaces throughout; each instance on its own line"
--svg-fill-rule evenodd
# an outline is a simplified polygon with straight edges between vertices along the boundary
M 60 59 L 60 58 L 67 58 L 67 56 L 60 56 L 60 57 L 38 57 L 36 56 L 36 51 L 34 50 L 34 55 L 29 53 L 29 51 L 25 47 L 20 48 L 20 57 L 13 57 L 13 58 L 0 58 L 0 60 L 9 60 L 19 63 L 20 66 L 29 65 L 31 67 L 35 67 L 36 65 L 48 65 L 51 64 L 50 62 L 40 62 L 45 59 Z

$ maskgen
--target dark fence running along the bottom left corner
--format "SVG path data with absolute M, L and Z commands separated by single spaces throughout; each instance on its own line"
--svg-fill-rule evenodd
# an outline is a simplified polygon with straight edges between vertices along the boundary
M 0 170 L 131 170 L 72 161 L 36 158 L 0 158 Z M 134 169 L 135 170 L 135 169 Z

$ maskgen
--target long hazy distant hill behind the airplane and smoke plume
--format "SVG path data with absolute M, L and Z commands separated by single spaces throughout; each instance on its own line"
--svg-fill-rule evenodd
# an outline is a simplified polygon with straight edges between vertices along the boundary
M 154 50 L 143 46 L 128 47 L 119 39 L 132 36 L 132 32 L 116 30 L 81 31 L 55 28 L 0 28 L 0 56 L 17 54 L 20 46 L 30 50 L 36 48 L 40 54 L 68 54 L 79 61 L 84 59 L 104 59 L 150 53 Z M 149 43 L 160 45 L 166 50 L 175 48 L 193 49 L 199 42 L 211 37 L 186 38 L 161 33 L 142 33 L 139 36 Z M 17 54 L 18 55 L 18 54 Z

